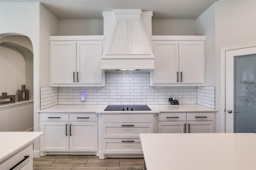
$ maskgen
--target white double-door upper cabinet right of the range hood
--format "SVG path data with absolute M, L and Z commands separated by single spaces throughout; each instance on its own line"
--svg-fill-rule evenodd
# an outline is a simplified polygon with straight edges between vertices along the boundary
M 150 86 L 203 86 L 204 41 L 154 41 Z

